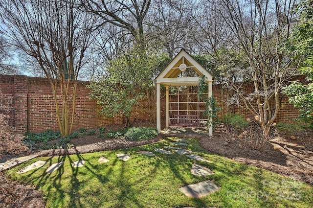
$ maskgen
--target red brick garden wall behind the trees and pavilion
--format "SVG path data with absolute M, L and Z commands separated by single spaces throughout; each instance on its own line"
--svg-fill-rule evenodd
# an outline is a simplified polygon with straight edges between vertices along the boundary
M 88 82 L 78 81 L 74 130 L 109 124 L 123 124 L 125 122 L 124 117 L 106 118 L 98 114 L 100 107 L 96 105 L 95 100 L 89 100 L 89 90 L 85 87 L 86 84 Z M 15 126 L 18 132 L 38 133 L 47 129 L 59 131 L 54 98 L 47 79 L 21 75 L 0 75 L 0 90 L 0 104 L 8 107 L 10 111 L 8 113 L 10 116 L 9 124 Z M 226 100 L 226 92 L 227 89 L 221 91 L 220 85 L 213 86 L 213 95 L 216 97 L 219 105 L 223 105 L 224 111 L 220 111 L 219 116 L 222 116 L 227 110 L 224 102 Z M 58 99 L 60 101 L 61 97 L 58 97 Z M 243 109 L 235 107 L 234 111 L 253 118 L 250 112 Z M 132 118 L 136 116 L 137 120 L 148 121 L 150 119 L 149 112 L 149 103 L 143 100 L 134 106 Z M 283 97 L 277 121 L 291 122 L 298 115 L 298 110 L 288 103 L 288 98 L 286 96 Z M 162 93 L 161 119 L 164 118 L 165 96 Z

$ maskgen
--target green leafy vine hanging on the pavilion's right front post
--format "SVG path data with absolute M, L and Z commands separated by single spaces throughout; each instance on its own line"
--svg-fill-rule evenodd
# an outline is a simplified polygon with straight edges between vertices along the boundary
M 208 83 L 205 80 L 205 76 L 202 75 L 199 78 L 198 83 L 198 95 L 199 95 L 199 101 L 203 98 L 203 95 L 208 94 Z M 217 125 L 217 114 L 218 111 L 221 110 L 221 108 L 218 106 L 218 102 L 216 101 L 214 96 L 208 97 L 203 99 L 204 105 L 205 105 L 205 111 L 203 114 L 207 116 L 207 123 L 206 125 L 208 127 L 213 128 L 213 133 L 215 130 L 215 127 Z

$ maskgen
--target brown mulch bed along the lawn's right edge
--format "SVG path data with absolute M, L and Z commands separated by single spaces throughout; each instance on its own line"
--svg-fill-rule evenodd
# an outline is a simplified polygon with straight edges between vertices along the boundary
M 203 137 L 200 145 L 212 153 L 313 185 L 313 132 L 310 130 L 275 135 L 263 152 L 250 148 L 242 139 L 225 139 L 223 134 Z

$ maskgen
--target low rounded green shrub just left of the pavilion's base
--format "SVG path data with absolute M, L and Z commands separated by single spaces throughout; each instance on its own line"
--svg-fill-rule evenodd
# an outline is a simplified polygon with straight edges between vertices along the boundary
M 152 139 L 157 135 L 157 129 L 152 127 L 133 127 L 128 129 L 124 137 L 130 141 Z

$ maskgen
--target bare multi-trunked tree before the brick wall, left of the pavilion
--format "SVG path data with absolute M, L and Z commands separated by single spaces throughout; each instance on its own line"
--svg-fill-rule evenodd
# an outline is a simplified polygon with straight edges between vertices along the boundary
M 5 25 L 2 30 L 17 48 L 38 63 L 49 80 L 63 136 L 72 132 L 76 81 L 88 59 L 90 28 L 94 23 L 76 3 L 76 0 L 0 1 L 0 20 Z

